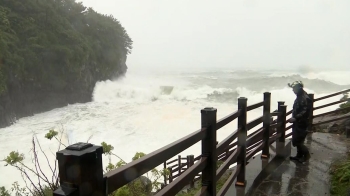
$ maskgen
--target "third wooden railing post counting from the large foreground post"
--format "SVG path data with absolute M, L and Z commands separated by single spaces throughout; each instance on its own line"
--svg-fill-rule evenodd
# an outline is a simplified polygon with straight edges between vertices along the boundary
M 237 136 L 237 167 L 240 166 L 237 174 L 236 186 L 245 186 L 245 170 L 246 170 L 246 151 L 247 151 L 247 98 L 238 98 L 238 136 Z

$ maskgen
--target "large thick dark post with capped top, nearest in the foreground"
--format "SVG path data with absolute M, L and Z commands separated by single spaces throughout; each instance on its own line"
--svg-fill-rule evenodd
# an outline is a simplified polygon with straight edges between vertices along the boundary
M 57 152 L 61 186 L 53 195 L 105 195 L 102 153 L 102 146 L 81 142 Z

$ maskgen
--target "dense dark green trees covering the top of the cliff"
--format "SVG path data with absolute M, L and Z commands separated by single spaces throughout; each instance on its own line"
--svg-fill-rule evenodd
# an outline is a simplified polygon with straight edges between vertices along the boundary
M 14 82 L 73 90 L 123 74 L 131 49 L 117 19 L 75 0 L 0 1 L 0 95 Z

